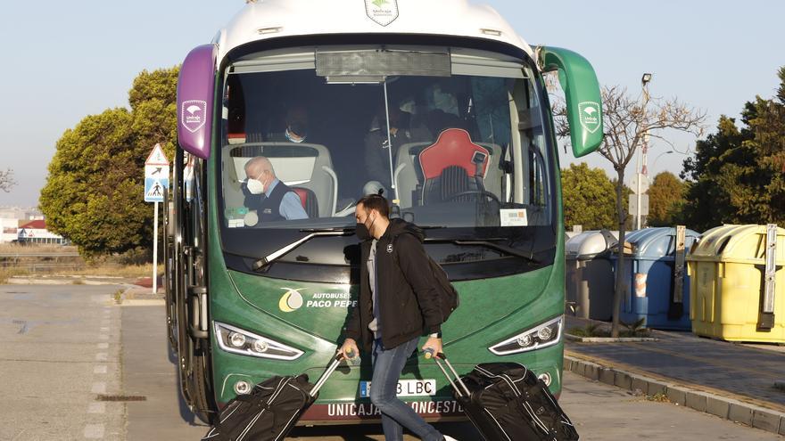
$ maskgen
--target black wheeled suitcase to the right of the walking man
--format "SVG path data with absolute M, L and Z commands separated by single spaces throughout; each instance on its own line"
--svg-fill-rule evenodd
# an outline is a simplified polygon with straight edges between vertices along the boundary
M 444 364 L 450 373 L 444 370 Z M 534 372 L 518 363 L 477 364 L 459 377 L 447 358 L 435 357 L 467 417 L 487 441 L 573 441 L 572 421 Z

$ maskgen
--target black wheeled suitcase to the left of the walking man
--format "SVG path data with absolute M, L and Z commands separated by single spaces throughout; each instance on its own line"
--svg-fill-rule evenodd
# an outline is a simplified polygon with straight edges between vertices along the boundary
M 202 441 L 283 440 L 342 360 L 343 355 L 336 355 L 315 385 L 305 374 L 260 382 L 251 393 L 237 396 L 224 407 Z

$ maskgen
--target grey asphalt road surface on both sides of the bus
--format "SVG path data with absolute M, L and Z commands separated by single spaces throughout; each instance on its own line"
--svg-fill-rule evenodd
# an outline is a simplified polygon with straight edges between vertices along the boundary
M 115 290 L 0 286 L 0 440 L 194 440 L 206 432 L 179 399 L 163 307 L 114 306 Z M 561 404 L 582 440 L 782 439 L 570 372 L 564 380 Z M 144 401 L 96 401 L 102 394 Z M 437 428 L 479 439 L 468 424 Z M 384 438 L 377 426 L 344 426 L 301 428 L 291 439 Z

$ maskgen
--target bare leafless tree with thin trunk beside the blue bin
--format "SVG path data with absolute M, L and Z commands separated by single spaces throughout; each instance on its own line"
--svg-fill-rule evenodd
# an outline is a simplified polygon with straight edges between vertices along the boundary
M 647 143 L 650 136 L 672 145 L 664 135 L 666 129 L 702 135 L 706 112 L 696 110 L 680 102 L 678 98 L 664 100 L 649 98 L 644 92 L 641 100 L 632 98 L 627 89 L 620 86 L 603 87 L 602 110 L 604 123 L 603 142 L 599 154 L 613 164 L 616 170 L 616 213 L 619 225 L 619 258 L 614 290 L 612 337 L 619 336 L 619 313 L 624 292 L 624 235 L 627 212 L 624 204 L 624 171 L 635 151 Z M 569 139 L 566 108 L 557 100 L 554 106 L 557 135 Z

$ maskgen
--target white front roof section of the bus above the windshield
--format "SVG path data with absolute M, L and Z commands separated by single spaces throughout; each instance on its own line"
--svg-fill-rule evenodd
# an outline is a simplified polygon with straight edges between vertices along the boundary
M 474 37 L 508 43 L 533 56 L 499 12 L 467 0 L 258 0 L 238 12 L 215 43 L 221 61 L 252 41 L 325 34 Z

